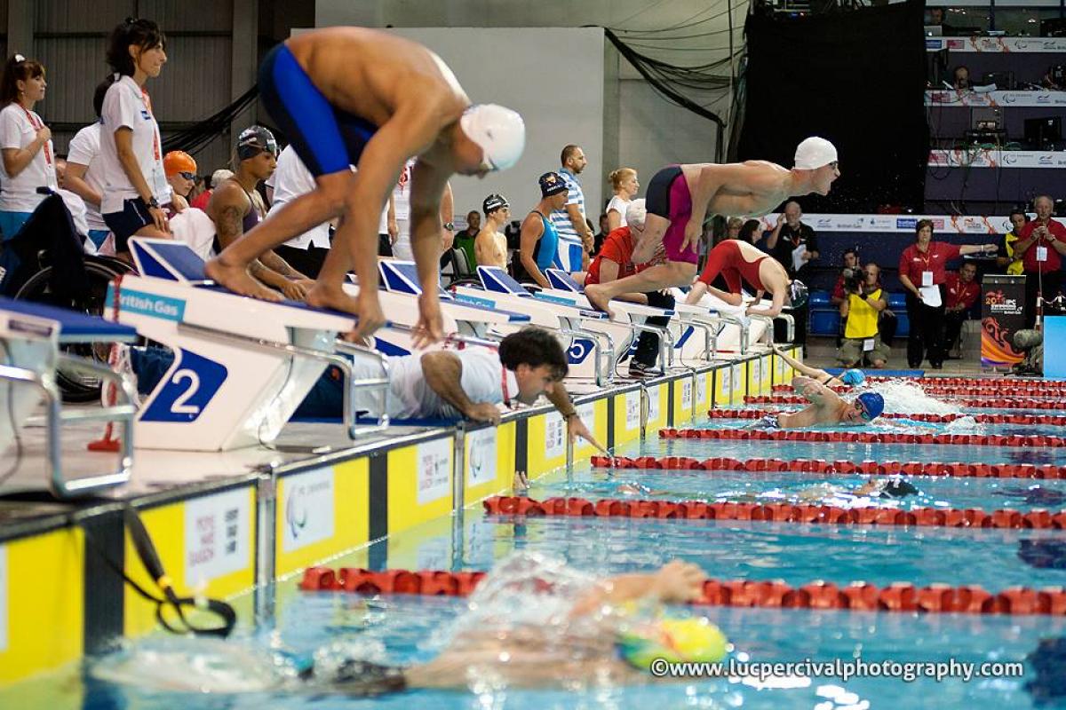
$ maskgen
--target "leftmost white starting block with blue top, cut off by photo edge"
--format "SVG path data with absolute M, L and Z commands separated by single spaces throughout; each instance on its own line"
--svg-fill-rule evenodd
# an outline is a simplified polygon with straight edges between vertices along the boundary
M 129 481 L 133 464 L 133 414 L 136 392 L 128 378 L 88 360 L 60 352 L 67 343 L 131 343 L 136 331 L 128 326 L 64 309 L 0 298 L 0 451 L 10 462 L 20 455 L 20 432 L 27 418 L 45 400 L 46 459 L 49 485 L 60 498 L 95 493 Z M 77 370 L 114 385 L 122 403 L 112 407 L 64 410 L 55 384 L 55 369 Z M 115 470 L 67 479 L 63 472 L 63 425 L 75 422 L 114 422 L 122 425 Z M 16 452 L 11 452 L 12 445 Z M 6 465 L 6 464 L 5 464 Z M 17 463 L 16 463 L 17 465 Z

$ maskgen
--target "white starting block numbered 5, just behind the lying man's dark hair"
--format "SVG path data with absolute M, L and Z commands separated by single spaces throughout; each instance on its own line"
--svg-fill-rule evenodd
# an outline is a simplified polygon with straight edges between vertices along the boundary
M 599 311 L 534 298 L 497 266 L 479 266 L 478 277 L 483 287 L 458 286 L 456 300 L 528 315 L 532 325 L 552 331 L 563 345 L 568 378 L 594 380 L 599 386 L 611 381 L 616 359 L 625 352 L 615 345 L 628 348 L 633 337 L 626 324 L 612 323 Z

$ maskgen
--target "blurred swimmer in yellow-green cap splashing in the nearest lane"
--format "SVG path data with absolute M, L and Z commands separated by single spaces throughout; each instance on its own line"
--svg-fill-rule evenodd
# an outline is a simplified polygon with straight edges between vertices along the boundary
M 454 623 L 450 643 L 432 661 L 398 666 L 352 658 L 320 660 L 297 674 L 275 673 L 274 680 L 259 681 L 263 688 L 248 679 L 270 674 L 219 673 L 232 678 L 232 688 L 211 689 L 371 697 L 415 689 L 467 690 L 484 678 L 507 688 L 652 682 L 657 679 L 647 665 L 655 657 L 716 662 L 726 655 L 725 638 L 706 618 L 661 614 L 663 605 L 702 596 L 706 580 L 699 567 L 681 561 L 651 574 L 597 578 L 559 559 L 516 551 L 481 581 L 467 612 Z M 237 646 L 215 645 L 214 653 L 228 653 L 235 663 L 248 665 L 248 653 Z M 177 667 L 180 662 L 194 665 L 193 659 L 174 660 L 165 670 L 169 690 L 181 683 L 197 691 L 208 687 L 194 671 Z M 156 670 L 142 674 L 135 667 L 115 670 L 101 663 L 94 675 L 144 684 L 145 675 L 160 675 L 158 659 L 150 664 Z

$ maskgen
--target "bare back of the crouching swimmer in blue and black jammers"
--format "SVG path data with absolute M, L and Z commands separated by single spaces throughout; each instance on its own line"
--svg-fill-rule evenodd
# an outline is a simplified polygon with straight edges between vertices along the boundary
M 298 34 L 287 45 L 330 104 L 375 126 L 415 104 L 438 111 L 445 128 L 470 104 L 448 65 L 404 37 L 334 27 Z

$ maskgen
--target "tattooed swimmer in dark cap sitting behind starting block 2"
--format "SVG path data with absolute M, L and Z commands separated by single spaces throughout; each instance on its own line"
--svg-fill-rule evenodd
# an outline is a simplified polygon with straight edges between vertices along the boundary
M 214 222 L 219 238 L 216 251 L 241 238 L 266 216 L 266 211 L 257 204 L 252 195 L 277 166 L 277 143 L 269 130 L 253 126 L 237 138 L 237 172 L 214 188 L 207 205 L 207 214 Z M 252 262 L 249 270 L 254 277 L 292 300 L 303 300 L 307 288 L 314 284 L 271 250 Z

